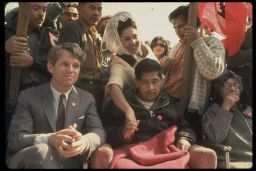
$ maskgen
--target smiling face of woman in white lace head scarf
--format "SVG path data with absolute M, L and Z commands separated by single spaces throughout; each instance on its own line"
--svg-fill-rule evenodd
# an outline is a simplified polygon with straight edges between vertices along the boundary
M 137 29 L 128 27 L 123 30 L 120 40 L 124 48 L 131 54 L 135 54 L 139 47 Z

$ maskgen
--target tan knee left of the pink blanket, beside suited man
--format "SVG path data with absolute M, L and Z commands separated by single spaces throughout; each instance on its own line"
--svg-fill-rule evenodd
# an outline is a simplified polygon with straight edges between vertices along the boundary
M 109 144 L 99 146 L 92 156 L 92 169 L 107 169 L 113 158 L 114 152 Z

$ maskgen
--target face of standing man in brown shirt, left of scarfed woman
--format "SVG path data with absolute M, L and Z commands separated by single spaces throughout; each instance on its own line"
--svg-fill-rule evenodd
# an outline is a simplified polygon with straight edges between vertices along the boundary
M 101 2 L 87 2 L 78 5 L 80 18 L 90 27 L 95 26 L 102 15 Z

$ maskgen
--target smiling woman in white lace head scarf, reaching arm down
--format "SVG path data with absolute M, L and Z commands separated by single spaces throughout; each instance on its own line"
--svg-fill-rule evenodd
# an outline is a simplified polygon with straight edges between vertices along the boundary
M 135 85 L 134 68 L 139 61 L 144 58 L 157 61 L 157 58 L 150 47 L 139 40 L 136 23 L 128 12 L 118 12 L 112 16 L 106 25 L 103 41 L 106 42 L 108 50 L 113 53 L 104 104 L 107 105 L 112 99 L 115 105 L 126 113 L 126 130 L 132 131 L 130 134 L 125 134 L 124 138 L 129 138 L 136 130 L 138 123 L 122 90 Z

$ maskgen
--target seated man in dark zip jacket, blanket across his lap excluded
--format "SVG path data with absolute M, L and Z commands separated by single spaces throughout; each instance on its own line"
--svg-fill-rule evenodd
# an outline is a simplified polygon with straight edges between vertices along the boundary
M 125 113 L 110 102 L 103 112 L 102 123 L 107 133 L 107 142 L 114 148 L 114 155 L 111 146 L 99 147 L 93 155 L 92 168 L 115 168 L 116 165 L 113 165 L 111 160 L 117 155 L 116 149 L 124 145 L 140 144 L 139 142 L 151 140 L 155 135 L 174 125 L 177 126 L 174 146 L 178 148 L 178 151 L 190 153 L 190 159 L 185 167 L 215 168 L 216 153 L 211 149 L 194 145 L 194 133 L 181 115 L 179 102 L 161 91 L 162 68 L 160 64 L 152 59 L 143 59 L 135 68 L 135 77 L 136 88 L 128 89 L 124 95 L 138 119 L 138 129 L 132 137 L 126 139 Z M 161 147 L 155 146 L 155 148 Z

